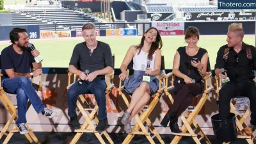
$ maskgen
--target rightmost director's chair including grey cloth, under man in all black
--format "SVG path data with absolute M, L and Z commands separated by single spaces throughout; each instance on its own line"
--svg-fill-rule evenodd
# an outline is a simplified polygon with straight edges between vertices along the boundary
M 215 77 L 216 79 L 216 93 L 217 96 L 220 97 L 220 89 L 221 89 L 221 80 L 219 77 Z M 239 106 L 244 106 L 244 108 L 239 108 Z M 236 115 L 236 127 L 237 131 L 240 132 L 241 135 L 238 135 L 237 138 L 239 139 L 245 139 L 247 143 L 256 143 L 255 136 L 253 134 L 251 136 L 247 136 L 243 129 L 247 127 L 245 124 L 246 118 L 250 115 L 250 100 L 248 97 L 235 97 L 230 100 L 230 113 L 234 113 Z M 228 142 L 230 143 L 230 142 Z

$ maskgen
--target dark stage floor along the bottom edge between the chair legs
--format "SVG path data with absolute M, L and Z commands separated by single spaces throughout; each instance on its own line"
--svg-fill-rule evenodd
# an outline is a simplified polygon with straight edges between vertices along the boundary
M 72 132 L 35 132 L 36 137 L 38 138 L 38 140 L 40 141 L 40 143 L 42 144 L 68 144 L 72 138 L 74 138 L 74 133 Z M 174 138 L 173 135 L 171 134 L 160 134 L 161 138 L 163 138 L 164 143 L 170 143 L 172 141 L 172 139 Z M 122 141 L 124 141 L 125 137 L 127 136 L 127 134 L 118 134 L 118 133 L 109 133 L 109 136 L 112 138 L 112 140 L 114 141 L 115 144 L 120 144 L 122 143 Z M 211 141 L 212 144 L 218 144 L 218 141 L 216 141 L 214 136 L 207 136 L 209 138 L 209 140 Z M 1 140 L 0 143 L 3 143 L 4 138 L 6 138 L 6 136 L 4 136 Z M 104 140 L 106 140 L 104 138 Z M 154 141 L 156 143 L 159 143 L 159 141 L 157 141 L 156 138 L 154 138 Z M 201 140 L 202 143 L 205 143 L 204 140 Z M 29 143 L 28 140 L 26 140 L 25 136 L 22 136 L 21 134 L 15 132 L 15 134 L 13 135 L 13 137 L 11 138 L 11 140 L 9 141 L 9 144 L 27 144 Z M 96 136 L 94 134 L 83 134 L 83 136 L 79 139 L 79 141 L 77 141 L 77 144 L 100 144 L 99 140 L 97 140 Z M 106 140 L 106 143 L 107 140 Z M 132 141 L 131 144 L 146 144 L 149 143 L 147 141 L 147 138 L 145 138 L 145 136 L 135 136 Z M 188 138 L 188 137 L 184 137 L 182 138 L 182 140 L 180 141 L 180 144 L 194 144 L 195 141 L 193 141 L 192 138 Z M 245 140 L 236 140 L 236 141 L 232 141 L 232 144 L 245 144 L 246 141 Z

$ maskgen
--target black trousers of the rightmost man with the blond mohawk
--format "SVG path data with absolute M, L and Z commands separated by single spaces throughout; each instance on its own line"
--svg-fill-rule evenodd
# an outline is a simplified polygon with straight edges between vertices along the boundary
M 230 118 L 230 100 L 237 96 L 250 99 L 251 124 L 256 125 L 256 83 L 253 80 L 229 81 L 224 83 L 220 89 L 219 109 L 220 118 Z

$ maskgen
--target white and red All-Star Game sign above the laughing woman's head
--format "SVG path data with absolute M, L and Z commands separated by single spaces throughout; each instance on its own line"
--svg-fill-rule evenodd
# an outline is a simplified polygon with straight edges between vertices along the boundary
M 161 36 L 184 35 L 184 25 L 184 22 L 152 22 L 152 27 L 157 28 Z

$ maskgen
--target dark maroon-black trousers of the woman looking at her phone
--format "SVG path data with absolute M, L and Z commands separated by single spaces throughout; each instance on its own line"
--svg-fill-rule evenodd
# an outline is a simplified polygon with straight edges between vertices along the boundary
M 193 97 L 196 97 L 204 90 L 204 83 L 175 83 L 174 92 L 175 95 L 174 102 L 171 106 L 171 111 L 176 113 L 176 121 L 179 116 L 188 108 L 191 104 Z

